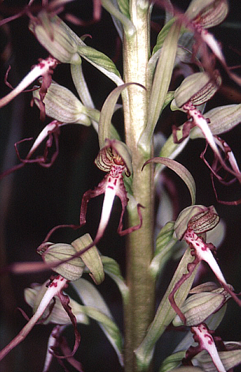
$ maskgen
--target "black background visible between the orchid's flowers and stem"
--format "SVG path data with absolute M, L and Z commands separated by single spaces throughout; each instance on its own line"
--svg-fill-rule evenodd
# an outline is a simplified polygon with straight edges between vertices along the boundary
M 0 4 L 3 18 L 9 17 L 11 12 L 16 12 L 16 1 L 4 1 Z M 180 2 L 176 2 L 180 6 Z M 182 1 L 183 10 L 189 1 Z M 229 66 L 240 64 L 240 4 L 238 1 L 230 1 L 230 12 L 226 21 L 211 30 L 216 38 L 222 43 L 224 55 Z M 25 1 L 18 1 L 18 6 L 25 5 Z M 76 17 L 89 22 L 92 19 L 92 1 L 74 1 L 66 6 L 68 12 Z M 65 13 L 61 14 L 64 16 Z M 154 22 L 163 25 L 163 11 L 156 7 Z M 121 71 L 121 47 L 119 46 L 118 34 L 112 25 L 109 14 L 103 10 L 101 20 L 86 27 L 72 26 L 79 36 L 92 35 L 92 39 L 86 39 L 87 45 L 95 47 L 114 59 Z M 156 40 L 156 31 L 152 32 L 152 41 Z M 9 88 L 3 84 L 6 69 L 12 66 L 9 81 L 16 86 L 21 78 L 28 74 L 30 67 L 36 64 L 38 58 L 48 56 L 34 36 L 28 31 L 28 18 L 22 17 L 8 23 L 1 28 L 1 96 L 4 96 Z M 7 49 L 8 48 L 8 49 Z M 6 50 L 8 53 L 6 54 Z M 98 72 L 91 65 L 83 61 L 83 69 L 87 83 L 92 92 L 96 108 L 101 109 L 109 91 L 114 89 L 114 84 Z M 221 69 L 224 85 L 220 92 L 208 103 L 206 111 L 217 105 L 240 103 L 240 89 L 233 83 L 227 74 Z M 240 70 L 236 70 L 240 72 Z M 59 65 L 54 72 L 54 80 L 61 85 L 74 91 L 74 85 L 70 77 L 69 65 Z M 229 91 L 224 89 L 229 87 Z M 9 105 L 1 109 L 1 138 L 0 138 L 0 161 L 1 169 L 6 170 L 17 164 L 18 160 L 14 152 L 14 142 L 20 139 L 33 137 L 39 134 L 45 123 L 39 120 L 39 110 L 30 107 L 31 94 L 21 94 Z M 163 118 L 158 123 L 157 130 L 162 130 L 165 135 L 171 133 L 171 124 L 182 124 L 184 118 L 178 113 L 171 113 L 169 109 L 163 113 Z M 120 131 L 121 116 L 116 116 L 116 127 Z M 240 164 L 240 127 L 236 127 L 230 133 L 225 133 L 222 138 L 233 149 Z M 21 155 L 28 153 L 28 142 L 21 144 Z M 240 291 L 240 206 L 225 206 L 218 204 L 211 187 L 209 170 L 200 160 L 200 152 L 204 149 L 203 140 L 189 142 L 184 153 L 178 157 L 178 161 L 184 164 L 193 174 L 197 185 L 197 204 L 216 206 L 220 217 L 224 219 L 227 234 L 218 250 L 220 267 L 225 278 Z M 41 244 L 48 231 L 61 223 L 78 223 L 81 198 L 89 188 L 94 188 L 103 178 L 103 173 L 94 166 L 94 158 L 98 153 L 98 138 L 91 128 L 78 125 L 67 125 L 61 128 L 59 138 L 59 156 L 51 168 L 42 168 L 38 164 L 27 164 L 24 168 L 8 175 L 0 184 L 1 191 L 1 263 L 17 261 L 41 261 L 36 254 L 36 248 Z M 179 210 L 189 205 L 189 195 L 186 187 L 178 177 L 167 172 L 178 190 Z M 220 199 L 233 200 L 240 197 L 237 185 L 229 188 L 218 188 Z M 90 232 L 92 237 L 98 227 L 98 218 L 101 212 L 102 198 L 90 201 L 87 211 L 87 223 L 81 229 L 81 234 Z M 105 232 L 105 239 L 98 248 L 105 255 L 112 256 L 120 263 L 125 272 L 125 239 L 118 237 L 116 228 L 121 208 L 116 201 L 112 212 L 112 221 Z M 78 232 L 59 230 L 52 240 L 56 242 L 70 243 L 78 237 Z M 168 267 L 167 278 L 171 277 L 176 263 Z M 17 307 L 24 309 L 31 316 L 31 309 L 23 300 L 23 289 L 33 282 L 43 283 L 50 276 L 49 272 L 36 274 L 23 274 L 21 276 L 2 276 L 1 283 L 1 348 L 8 340 L 14 337 L 25 325 L 25 320 Z M 203 280 L 213 280 L 209 274 Z M 109 278 L 99 286 L 101 293 L 107 301 L 116 322 L 123 329 L 121 296 L 118 294 L 116 285 Z M 158 289 L 158 300 L 165 288 Z M 41 371 L 45 356 L 45 347 L 52 325 L 43 327 L 37 325 L 28 337 L 1 362 L 0 371 L 25 372 Z M 240 339 L 240 310 L 232 301 L 228 305 L 224 321 L 218 327 L 217 333 L 224 340 Z M 91 327 L 80 326 L 81 346 L 76 353 L 76 358 L 83 362 L 85 372 L 112 372 L 121 371 L 118 366 L 116 355 L 106 341 L 102 331 L 95 322 Z M 66 335 L 72 337 L 72 328 L 67 329 Z M 156 365 L 160 360 L 171 353 L 172 349 L 166 350 L 163 344 L 171 344 L 174 349 L 174 335 L 167 332 L 165 339 L 158 342 Z M 158 369 L 156 369 L 157 371 Z M 56 361 L 51 371 L 63 371 Z

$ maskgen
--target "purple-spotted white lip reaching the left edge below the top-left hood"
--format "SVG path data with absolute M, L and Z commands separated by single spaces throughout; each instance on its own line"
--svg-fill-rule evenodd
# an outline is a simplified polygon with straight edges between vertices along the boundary
M 23 91 L 31 83 L 33 83 L 34 80 L 36 80 L 36 78 L 39 78 L 39 76 L 43 76 L 45 74 L 50 74 L 52 72 L 52 69 L 56 67 L 57 64 L 58 61 L 53 57 L 42 59 L 38 63 L 38 65 L 35 65 L 33 69 L 28 73 L 28 75 L 26 75 L 25 78 L 23 78 L 21 83 L 19 83 L 19 85 L 17 85 L 15 89 L 10 91 L 10 93 L 7 94 L 7 96 L 1 98 L 0 108 L 7 105 L 8 102 L 13 100 L 13 98 L 15 98 L 19 93 L 21 93 L 21 91 Z

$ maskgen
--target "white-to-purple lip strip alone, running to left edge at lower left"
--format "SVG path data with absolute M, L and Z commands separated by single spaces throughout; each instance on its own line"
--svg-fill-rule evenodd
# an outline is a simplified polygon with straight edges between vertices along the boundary
M 59 294 L 61 289 L 63 289 L 67 284 L 67 279 L 63 278 L 63 276 L 58 275 L 54 280 L 50 283 L 47 291 L 45 292 L 39 307 L 36 309 L 36 312 L 32 316 L 32 318 L 28 321 L 28 323 L 21 329 L 19 334 L 6 346 L 4 349 L 0 351 L 0 360 L 2 360 L 14 347 L 16 347 L 21 341 L 25 339 L 25 337 L 30 333 L 32 327 L 36 324 L 36 322 L 41 318 L 45 309 L 47 309 L 50 301 L 54 296 Z

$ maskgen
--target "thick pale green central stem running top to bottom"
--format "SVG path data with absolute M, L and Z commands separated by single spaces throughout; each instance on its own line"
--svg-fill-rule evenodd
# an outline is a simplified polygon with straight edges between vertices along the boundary
M 129 12 L 136 33 L 124 40 L 125 83 L 147 86 L 149 58 L 149 3 L 130 1 Z M 138 372 L 134 350 L 140 345 L 154 317 L 155 282 L 149 265 L 153 256 L 153 174 L 151 167 L 141 168 L 151 157 L 151 145 L 138 147 L 138 139 L 147 124 L 149 92 L 141 87 L 128 87 L 128 98 L 123 96 L 126 143 L 132 151 L 133 184 L 136 202 L 142 209 L 143 226 L 128 236 L 127 285 L 129 300 L 125 305 L 125 372 Z M 138 223 L 136 208 L 128 205 L 129 226 Z

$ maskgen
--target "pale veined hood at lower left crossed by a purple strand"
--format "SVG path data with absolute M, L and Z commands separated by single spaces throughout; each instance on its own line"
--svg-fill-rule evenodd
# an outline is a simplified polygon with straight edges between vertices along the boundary
M 77 281 L 83 274 L 85 263 L 80 257 L 75 257 L 71 261 L 61 263 L 67 259 L 71 259 L 76 250 L 70 244 L 65 243 L 43 243 L 37 249 L 37 252 L 43 257 L 43 261 L 52 264 L 53 270 L 61 274 L 68 281 Z M 57 265 L 59 263 L 59 265 Z M 57 266 L 56 266 L 57 265 Z

